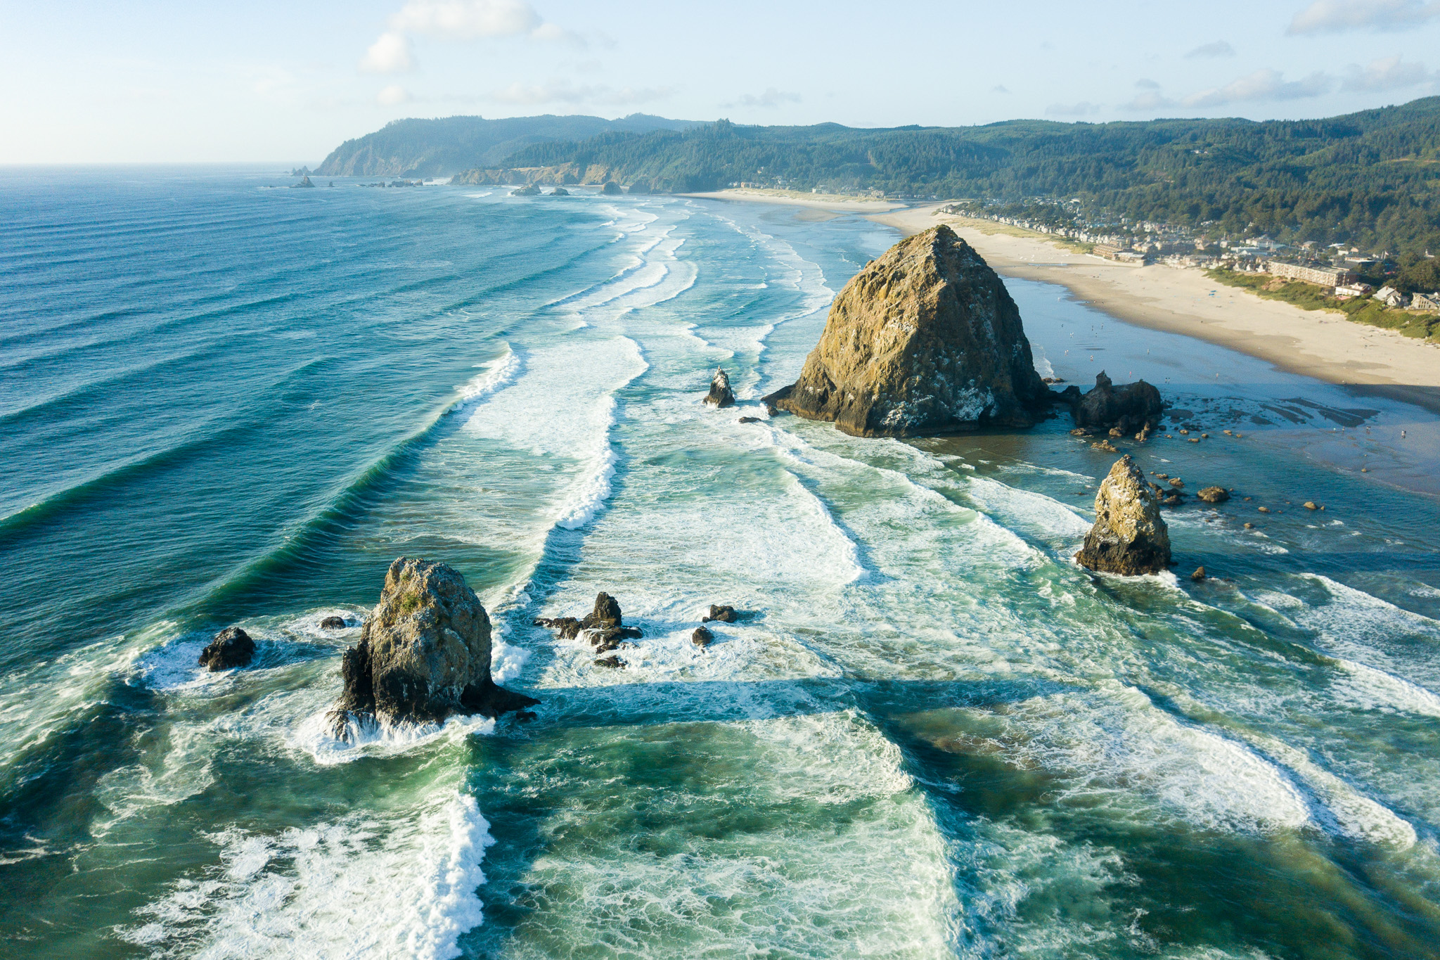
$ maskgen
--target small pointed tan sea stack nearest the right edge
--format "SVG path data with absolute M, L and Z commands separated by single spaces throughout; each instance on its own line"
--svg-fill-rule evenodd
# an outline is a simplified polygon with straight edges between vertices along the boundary
M 1083 567 L 1128 577 L 1169 569 L 1169 530 L 1140 468 L 1122 456 L 1094 497 L 1094 527 L 1076 554 Z

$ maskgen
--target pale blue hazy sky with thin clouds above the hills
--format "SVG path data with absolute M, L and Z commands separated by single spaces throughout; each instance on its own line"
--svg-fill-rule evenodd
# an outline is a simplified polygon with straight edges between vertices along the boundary
M 320 161 L 399 117 L 1325 117 L 1440 92 L 1440 0 L 0 0 L 0 163 Z

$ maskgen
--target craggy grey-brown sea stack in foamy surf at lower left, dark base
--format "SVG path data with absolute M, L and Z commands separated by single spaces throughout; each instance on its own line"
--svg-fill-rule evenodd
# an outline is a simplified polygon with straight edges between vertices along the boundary
M 439 723 L 495 717 L 539 701 L 490 679 L 490 616 L 465 577 L 444 563 L 400 557 L 360 643 L 340 664 L 344 692 L 330 711 L 344 737 L 351 720 Z

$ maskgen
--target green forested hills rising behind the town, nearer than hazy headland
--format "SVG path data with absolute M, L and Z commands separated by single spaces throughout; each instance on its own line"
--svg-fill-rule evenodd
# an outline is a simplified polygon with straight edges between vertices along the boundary
M 492 166 L 564 164 L 670 191 L 756 181 L 942 199 L 1079 197 L 1132 219 L 1214 222 L 1231 233 L 1344 240 L 1408 258 L 1440 250 L 1440 98 L 1312 121 L 894 130 L 720 121 L 536 142 Z

